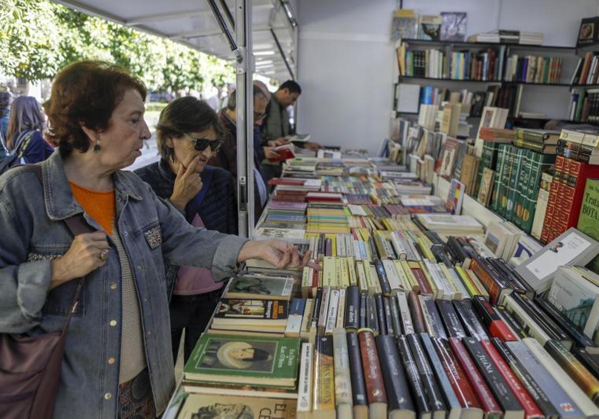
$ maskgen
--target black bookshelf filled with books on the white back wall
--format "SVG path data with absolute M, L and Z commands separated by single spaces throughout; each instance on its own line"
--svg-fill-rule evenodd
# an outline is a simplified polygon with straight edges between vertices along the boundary
M 540 113 L 544 115 L 543 119 L 559 119 L 564 120 L 569 123 L 580 123 L 580 121 L 574 121 L 573 118 L 570 117 L 570 106 L 573 101 L 573 97 L 576 93 L 574 89 L 577 89 L 579 92 L 584 92 L 586 89 L 592 89 L 599 87 L 598 84 L 572 84 L 574 71 L 576 71 L 577 63 L 579 59 L 584 59 L 585 53 L 592 51 L 593 48 L 597 48 L 599 45 L 585 45 L 585 47 L 577 48 L 576 46 L 567 46 L 567 45 L 529 45 L 529 44 L 513 44 L 507 42 L 452 42 L 452 41 L 431 41 L 431 40 L 418 40 L 418 39 L 404 39 L 398 41 L 396 47 L 399 47 L 403 42 L 403 47 L 405 47 L 405 68 L 406 71 L 403 75 L 397 74 L 397 78 L 395 78 L 394 86 L 394 95 L 393 95 L 393 105 L 398 104 L 400 102 L 400 98 L 397 97 L 395 92 L 395 87 L 401 83 L 407 84 L 419 84 L 421 87 L 424 86 L 432 86 L 435 89 L 443 89 L 446 88 L 452 92 L 459 90 L 469 90 L 470 92 L 476 92 L 485 90 L 488 92 L 491 89 L 491 86 L 498 86 L 500 90 L 506 89 L 506 98 L 507 103 L 510 104 L 510 120 L 527 120 L 528 118 L 519 117 L 519 112 L 523 113 Z M 426 62 L 422 63 L 418 61 L 418 68 L 416 68 L 416 61 L 412 61 L 412 56 L 410 56 L 410 60 L 408 60 L 408 55 L 410 51 L 414 52 L 414 60 L 416 60 L 416 51 L 423 50 L 436 50 L 439 54 L 431 53 L 432 66 L 428 62 L 428 52 L 426 53 Z M 492 50 L 492 51 L 491 51 Z M 493 52 L 494 51 L 494 52 Z M 457 54 L 455 54 L 457 53 Z M 483 71 L 480 70 L 480 62 L 479 62 L 479 72 L 476 72 L 476 61 L 481 60 L 479 53 L 482 53 L 485 57 L 494 57 L 494 64 L 488 64 L 485 61 L 486 69 L 485 71 L 485 79 L 489 77 L 495 77 L 497 80 L 479 80 L 482 78 Z M 488 53 L 488 54 L 487 54 Z M 422 54 L 422 53 L 421 53 Z M 464 62 L 464 54 L 466 56 Z M 514 57 L 517 54 L 518 57 Z M 399 55 L 396 51 L 396 56 Z M 433 58 L 434 56 L 434 58 Z M 468 59 L 470 57 L 470 60 Z M 524 58 L 528 58 L 528 56 L 539 57 L 539 63 L 545 63 L 540 65 L 545 65 L 540 67 L 540 70 L 543 72 L 542 75 L 537 77 L 549 77 L 551 83 L 539 83 L 539 79 L 537 81 L 522 81 L 522 80 L 506 80 L 506 78 L 516 78 L 522 77 L 523 74 L 521 71 L 526 71 L 526 68 L 523 66 L 519 67 L 521 64 L 521 60 Z M 541 59 L 540 57 L 544 57 L 545 59 Z M 518 58 L 518 65 L 510 66 L 510 60 Z M 550 63 L 553 63 L 553 58 L 559 58 L 559 62 L 561 64 L 556 65 L 558 68 L 557 71 L 560 72 L 559 78 L 551 80 L 552 71 L 549 71 L 549 75 L 547 75 L 547 67 L 546 62 L 547 58 L 552 59 Z M 454 60 L 458 60 L 454 62 Z M 461 62 L 459 61 L 461 60 Z M 474 60 L 474 67 L 472 67 L 471 61 Z M 524 61 L 524 60 L 522 60 Z M 533 61 L 534 62 L 534 61 Z M 497 67 L 499 66 L 499 67 Z M 426 69 L 423 69 L 423 67 Z M 459 67 L 459 71 L 456 68 Z M 551 68 L 551 67 L 549 67 Z M 408 70 L 410 69 L 410 70 Z M 515 69 L 517 69 L 515 71 Z M 524 70 L 523 70 L 524 69 Z M 397 71 L 397 66 L 396 66 Z M 435 72 L 429 72 L 435 71 Z M 457 71 L 457 73 L 455 72 Z M 455 78 L 456 74 L 461 75 L 469 75 L 474 71 L 473 78 Z M 487 75 L 486 71 L 490 73 Z M 536 70 L 537 73 L 539 70 Z M 406 75 L 405 73 L 407 72 Z M 415 74 L 411 74 L 416 72 Z M 430 74 L 433 75 L 442 75 L 443 77 L 425 77 L 423 72 L 426 72 L 426 76 Z M 510 73 L 509 77 L 507 73 Z M 530 74 L 529 74 L 529 77 Z M 532 75 L 534 76 L 534 73 Z M 555 77 L 555 72 L 553 72 L 553 77 Z M 486 86 L 486 87 L 485 87 Z M 524 90 L 524 92 L 522 92 Z M 503 93 L 501 93 L 503 95 Z M 585 96 L 585 93 L 579 93 L 579 96 L 582 101 L 582 98 Z M 421 99 L 422 100 L 422 99 Z M 500 105 L 496 105 L 500 106 Z M 518 115 L 516 115 L 518 112 Z M 403 113 L 396 113 L 396 116 L 402 116 Z M 409 114 L 405 114 L 406 116 Z M 469 118 L 473 118 L 468 116 Z M 538 118 L 541 119 L 541 118 Z

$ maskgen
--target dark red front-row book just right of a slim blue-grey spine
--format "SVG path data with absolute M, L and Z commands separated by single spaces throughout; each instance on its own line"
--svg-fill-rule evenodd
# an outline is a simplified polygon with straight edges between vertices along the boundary
M 455 395 L 458 397 L 459 404 L 462 408 L 481 408 L 480 401 L 474 393 L 474 388 L 470 385 L 470 381 L 466 377 L 466 373 L 458 360 L 453 355 L 449 344 L 446 339 L 442 338 L 431 338 L 432 344 L 437 351 L 443 369 L 449 378 Z

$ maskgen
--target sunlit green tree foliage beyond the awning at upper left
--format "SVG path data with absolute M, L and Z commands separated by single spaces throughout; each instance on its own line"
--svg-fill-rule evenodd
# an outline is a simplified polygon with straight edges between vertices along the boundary
M 47 0 L 0 1 L 0 71 L 35 81 L 81 59 L 124 66 L 159 92 L 203 90 L 235 77 L 231 63 Z

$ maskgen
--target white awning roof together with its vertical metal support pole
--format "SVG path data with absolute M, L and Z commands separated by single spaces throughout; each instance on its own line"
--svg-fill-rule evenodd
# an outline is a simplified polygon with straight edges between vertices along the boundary
M 297 18 L 290 0 L 54 1 L 225 60 L 235 60 L 239 234 L 250 237 L 254 226 L 253 205 L 249 205 L 254 189 L 252 79 L 254 72 L 279 80 L 295 78 Z

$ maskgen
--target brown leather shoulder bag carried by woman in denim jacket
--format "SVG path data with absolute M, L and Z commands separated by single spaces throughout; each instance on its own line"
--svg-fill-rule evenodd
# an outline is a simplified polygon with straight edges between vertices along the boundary
M 27 165 L 43 184 L 41 166 Z M 64 220 L 73 236 L 94 230 L 82 214 Z M 84 278 L 80 278 L 71 311 L 62 330 L 40 336 L 0 334 L 0 418 L 52 418 L 66 330 L 77 309 Z

